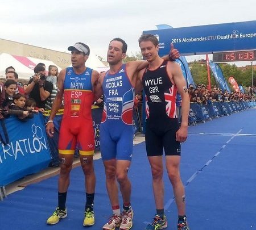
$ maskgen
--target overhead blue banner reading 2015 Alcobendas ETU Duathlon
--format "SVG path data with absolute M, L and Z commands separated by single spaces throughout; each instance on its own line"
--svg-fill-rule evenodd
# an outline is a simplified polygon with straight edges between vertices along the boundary
M 162 27 L 159 27 L 162 28 Z M 167 55 L 173 43 L 181 55 L 256 49 L 256 20 L 205 26 L 143 31 L 159 40 L 159 55 Z

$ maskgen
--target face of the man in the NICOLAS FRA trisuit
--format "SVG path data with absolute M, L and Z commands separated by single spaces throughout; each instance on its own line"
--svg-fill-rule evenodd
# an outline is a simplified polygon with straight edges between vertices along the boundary
M 107 61 L 111 65 L 118 64 L 125 58 L 125 53 L 122 51 L 123 44 L 121 41 L 112 41 L 109 44 L 109 49 L 107 53 Z

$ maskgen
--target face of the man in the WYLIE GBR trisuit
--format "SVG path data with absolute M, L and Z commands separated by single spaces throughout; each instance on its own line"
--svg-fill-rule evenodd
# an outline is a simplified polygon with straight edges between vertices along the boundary
M 148 61 L 154 61 L 155 58 L 158 56 L 159 46 L 154 45 L 152 41 L 142 41 L 139 44 L 139 47 L 141 48 L 141 54 L 142 56 Z

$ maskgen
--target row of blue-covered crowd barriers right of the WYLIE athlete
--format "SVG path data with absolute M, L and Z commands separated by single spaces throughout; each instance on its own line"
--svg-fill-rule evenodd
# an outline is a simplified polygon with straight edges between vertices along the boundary
M 256 107 L 256 102 L 210 102 L 209 104 L 203 103 L 190 103 L 188 123 L 196 124 L 197 122 L 205 122 L 212 118 L 219 116 L 226 116 L 246 110 L 247 108 Z

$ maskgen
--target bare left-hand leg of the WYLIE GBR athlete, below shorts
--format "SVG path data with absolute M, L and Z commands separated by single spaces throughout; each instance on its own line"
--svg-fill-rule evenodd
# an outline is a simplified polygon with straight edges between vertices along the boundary
M 156 209 L 160 210 L 164 208 L 164 185 L 163 185 L 163 161 L 162 156 L 148 157 L 148 161 L 151 166 L 152 173 L 152 185 L 155 198 Z

